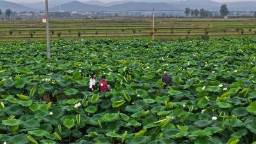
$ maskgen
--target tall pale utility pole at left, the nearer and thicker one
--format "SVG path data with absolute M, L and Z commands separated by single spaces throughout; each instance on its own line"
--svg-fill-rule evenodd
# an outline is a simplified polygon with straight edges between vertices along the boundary
M 46 44 L 47 44 L 47 59 L 51 59 L 51 49 L 50 49 L 50 30 L 49 30 L 49 9 L 48 0 L 45 0 L 45 18 L 46 18 Z

